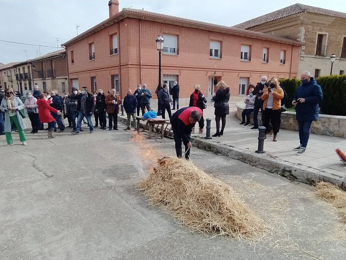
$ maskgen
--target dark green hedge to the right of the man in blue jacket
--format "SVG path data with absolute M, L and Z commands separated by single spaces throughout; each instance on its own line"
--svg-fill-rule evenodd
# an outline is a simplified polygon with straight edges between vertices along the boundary
M 322 76 L 316 81 L 323 93 L 321 114 L 346 116 L 346 75 Z

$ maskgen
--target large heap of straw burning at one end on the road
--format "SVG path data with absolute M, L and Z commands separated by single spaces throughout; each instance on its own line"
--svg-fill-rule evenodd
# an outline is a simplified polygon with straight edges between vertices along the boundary
M 266 230 L 237 194 L 222 181 L 204 173 L 190 161 L 164 157 L 150 176 L 138 183 L 139 191 L 192 232 L 235 238 L 258 238 Z

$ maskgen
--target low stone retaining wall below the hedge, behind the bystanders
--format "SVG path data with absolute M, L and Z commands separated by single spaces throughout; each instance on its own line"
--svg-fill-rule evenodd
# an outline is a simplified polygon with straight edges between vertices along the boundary
M 239 102 L 237 106 L 237 118 L 242 120 L 242 112 L 244 108 L 244 102 Z M 253 124 L 254 114 L 251 113 L 250 122 Z M 258 123 L 262 122 L 261 112 L 258 113 Z M 280 129 L 287 129 L 298 131 L 298 123 L 295 120 L 295 112 L 283 112 L 281 113 L 281 127 Z M 319 115 L 319 120 L 312 121 L 311 133 L 317 133 L 318 135 L 336 136 L 346 138 L 346 116 L 338 115 Z

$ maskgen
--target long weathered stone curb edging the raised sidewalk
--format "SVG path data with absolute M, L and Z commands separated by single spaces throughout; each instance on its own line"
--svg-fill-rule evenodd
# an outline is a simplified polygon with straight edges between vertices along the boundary
M 127 123 L 125 116 L 118 115 L 118 121 Z M 140 127 L 144 124 L 141 122 Z M 289 180 L 299 181 L 307 184 L 313 184 L 320 181 L 330 182 L 346 190 L 346 177 L 333 173 L 320 171 L 299 163 L 291 163 L 269 154 L 256 154 L 252 151 L 240 149 L 226 144 L 220 144 L 204 138 L 192 137 L 194 147 L 201 150 L 210 151 L 214 154 L 230 157 L 242 161 L 268 172 L 284 176 Z

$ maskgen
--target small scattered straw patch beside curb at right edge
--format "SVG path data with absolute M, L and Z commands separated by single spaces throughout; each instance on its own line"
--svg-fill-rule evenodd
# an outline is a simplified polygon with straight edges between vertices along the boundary
M 346 193 L 331 183 L 318 182 L 316 194 L 330 202 L 336 208 L 340 221 L 346 224 Z

